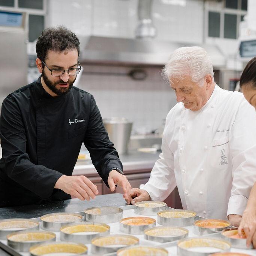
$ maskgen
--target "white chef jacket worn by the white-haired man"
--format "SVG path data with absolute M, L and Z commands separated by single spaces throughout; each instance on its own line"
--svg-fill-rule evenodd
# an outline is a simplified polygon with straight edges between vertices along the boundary
M 215 85 L 202 109 L 177 103 L 162 153 L 142 187 L 163 201 L 178 186 L 183 209 L 206 218 L 243 214 L 256 180 L 256 112 L 240 92 Z

